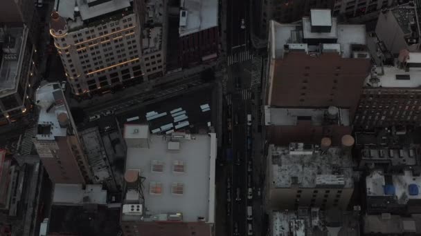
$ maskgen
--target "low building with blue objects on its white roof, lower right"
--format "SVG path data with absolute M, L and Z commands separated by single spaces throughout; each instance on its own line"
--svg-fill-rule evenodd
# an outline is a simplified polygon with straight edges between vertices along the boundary
M 372 170 L 366 176 L 368 214 L 391 213 L 409 215 L 421 213 L 421 177 L 411 170 L 385 173 Z

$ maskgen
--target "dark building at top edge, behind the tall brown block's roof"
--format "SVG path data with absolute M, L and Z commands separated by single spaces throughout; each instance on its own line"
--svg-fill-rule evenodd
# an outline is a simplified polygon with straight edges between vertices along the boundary
M 333 0 L 258 0 L 253 1 L 253 22 L 256 35 L 267 38 L 269 22 L 275 20 L 281 23 L 299 21 L 310 13 L 312 8 L 333 8 Z

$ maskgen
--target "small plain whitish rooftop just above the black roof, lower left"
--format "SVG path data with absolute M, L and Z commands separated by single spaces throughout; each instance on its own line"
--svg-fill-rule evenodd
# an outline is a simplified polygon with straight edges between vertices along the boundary
M 107 204 L 107 190 L 100 184 L 87 184 L 83 189 L 82 184 L 55 184 L 53 204 L 82 205 L 82 204 Z

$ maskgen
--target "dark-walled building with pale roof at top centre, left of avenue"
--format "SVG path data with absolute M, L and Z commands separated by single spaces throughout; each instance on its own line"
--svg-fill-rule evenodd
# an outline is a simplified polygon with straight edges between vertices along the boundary
M 181 1 L 179 61 L 183 68 L 217 58 L 219 52 L 218 1 Z M 197 6 L 200 6 L 197 8 Z

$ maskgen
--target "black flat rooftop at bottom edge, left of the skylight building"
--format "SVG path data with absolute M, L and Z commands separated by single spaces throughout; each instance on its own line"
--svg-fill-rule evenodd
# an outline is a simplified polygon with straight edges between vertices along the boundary
M 119 217 L 120 208 L 53 205 L 48 232 L 51 235 L 115 236 L 120 228 Z

